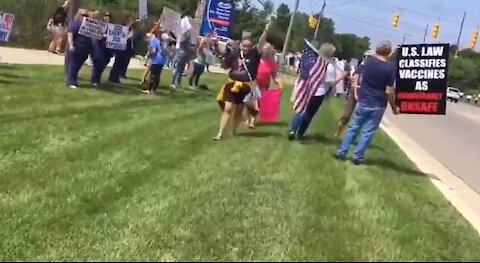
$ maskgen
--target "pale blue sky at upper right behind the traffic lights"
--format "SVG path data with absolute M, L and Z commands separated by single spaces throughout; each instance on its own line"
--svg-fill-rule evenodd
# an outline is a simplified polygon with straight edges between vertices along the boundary
M 291 10 L 295 2 L 295 0 L 272 1 L 275 8 L 280 3 L 285 3 Z M 300 0 L 299 10 L 306 13 L 319 12 L 322 3 L 323 0 Z M 396 31 L 380 28 L 391 29 L 393 15 L 397 11 L 401 13 L 399 28 Z M 327 0 L 325 15 L 333 18 L 337 33 L 368 36 L 373 45 L 381 40 L 399 44 L 405 33 L 406 43 L 420 43 L 423 41 L 427 24 L 430 24 L 427 42 L 456 43 L 464 11 L 467 11 L 467 17 L 460 47 L 465 48 L 470 45 L 475 26 L 480 25 L 480 0 Z M 440 18 L 440 35 L 435 40 L 431 37 L 431 27 L 437 18 Z M 480 50 L 480 40 L 477 50 Z

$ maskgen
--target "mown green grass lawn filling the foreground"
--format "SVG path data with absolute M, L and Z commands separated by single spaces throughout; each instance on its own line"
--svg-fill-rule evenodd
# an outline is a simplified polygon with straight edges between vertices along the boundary
M 214 142 L 215 91 L 70 90 L 62 70 L 0 65 L 1 261 L 480 260 L 478 234 L 384 134 L 368 165 L 332 159 L 343 101 L 308 145 L 286 139 L 290 94 L 280 123 Z

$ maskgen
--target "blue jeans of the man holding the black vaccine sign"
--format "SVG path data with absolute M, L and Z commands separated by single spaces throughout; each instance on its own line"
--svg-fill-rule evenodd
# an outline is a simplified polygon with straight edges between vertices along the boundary
M 362 162 L 365 151 L 372 142 L 373 136 L 380 127 L 385 108 L 368 107 L 365 104 L 358 103 L 353 112 L 352 120 L 348 126 L 348 131 L 343 138 L 340 148 L 337 150 L 337 156 L 345 157 L 353 141 L 360 134 L 360 140 L 357 149 L 353 155 L 353 160 Z

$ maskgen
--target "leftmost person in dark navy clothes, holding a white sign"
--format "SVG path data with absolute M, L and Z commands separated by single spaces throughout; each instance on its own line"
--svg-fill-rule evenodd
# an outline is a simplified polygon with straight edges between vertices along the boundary
M 78 72 L 92 52 L 92 39 L 78 34 L 82 21 L 88 17 L 88 11 L 80 9 L 72 24 L 68 28 L 68 78 L 67 86 L 76 89 L 78 85 Z

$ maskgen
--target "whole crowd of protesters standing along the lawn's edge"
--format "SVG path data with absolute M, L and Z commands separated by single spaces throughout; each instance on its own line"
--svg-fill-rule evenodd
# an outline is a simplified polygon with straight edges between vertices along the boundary
M 105 38 L 94 40 L 79 34 L 85 17 L 111 23 L 113 18 L 109 12 L 80 9 L 73 22 L 67 26 L 67 9 L 68 1 L 57 8 L 48 22 L 47 28 L 52 33 L 48 50 L 61 53 L 66 33 L 67 86 L 72 89 L 77 88 L 78 73 L 89 57 L 93 64 L 93 86 L 100 84 L 102 74 L 112 57 L 115 57 L 115 60 L 108 80 L 121 84 L 120 80 L 127 78 L 130 59 L 142 39 L 148 42 L 145 56 L 147 69 L 141 81 L 146 94 L 154 94 L 158 90 L 164 68 L 173 69 L 171 89 L 182 87 L 182 79 L 186 76 L 187 69 L 191 72 L 188 87 L 199 89 L 201 76 L 205 71 L 209 71 L 215 56 L 219 56 L 222 58 L 222 68 L 229 71 L 229 80 L 221 87 L 217 96 L 222 114 L 219 131 L 214 139 L 221 140 L 230 124 L 231 135 L 235 135 L 242 121 L 249 128 L 255 129 L 262 93 L 268 90 L 272 83 L 283 88 L 278 77 L 280 65 L 277 54 L 266 41 L 270 23 L 266 25 L 257 43 L 250 38 L 241 42 L 229 41 L 225 51 L 221 52 L 213 35 L 192 39 L 191 27 L 174 34 L 162 30 L 158 23 L 154 23 L 149 33 L 145 34 L 142 21 L 126 16 L 121 24 L 129 29 L 127 48 L 117 51 L 107 48 Z M 394 100 L 395 68 L 388 62 L 392 46 L 386 41 L 380 43 L 375 51 L 365 52 L 354 72 L 349 63 L 346 63 L 343 69 L 338 67 L 338 60 L 334 57 L 335 47 L 332 44 L 324 43 L 318 53 L 318 58 L 312 62 L 308 72 L 303 73 L 306 63 L 304 59 L 308 59 L 308 55 L 289 54 L 284 59 L 288 70 L 299 73 L 292 95 L 296 114 L 288 137 L 290 140 L 305 139 L 305 133 L 317 111 L 329 96 L 338 95 L 335 87 L 343 81 L 347 90 L 346 103 L 335 136 L 340 137 L 345 128 L 347 131 L 335 157 L 345 160 L 350 146 L 359 136 L 353 162 L 361 164 L 365 151 L 379 128 L 387 104 L 391 105 L 394 114 L 398 114 Z

